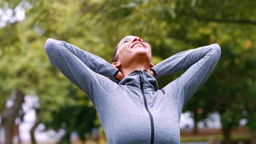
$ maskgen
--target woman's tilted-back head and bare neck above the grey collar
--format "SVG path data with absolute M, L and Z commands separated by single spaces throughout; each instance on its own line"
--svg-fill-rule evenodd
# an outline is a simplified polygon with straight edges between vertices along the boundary
M 112 65 L 118 68 L 123 77 L 135 70 L 146 70 L 154 65 L 151 63 L 151 47 L 140 37 L 127 36 L 116 46 Z M 122 78 L 120 79 L 122 80 Z

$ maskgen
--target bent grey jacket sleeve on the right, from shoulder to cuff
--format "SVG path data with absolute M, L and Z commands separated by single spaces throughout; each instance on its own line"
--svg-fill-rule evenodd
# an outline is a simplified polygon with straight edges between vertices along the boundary
M 220 46 L 213 44 L 177 53 L 153 67 L 155 77 L 188 69 L 162 90 L 176 99 L 182 108 L 193 94 L 205 83 L 220 57 Z

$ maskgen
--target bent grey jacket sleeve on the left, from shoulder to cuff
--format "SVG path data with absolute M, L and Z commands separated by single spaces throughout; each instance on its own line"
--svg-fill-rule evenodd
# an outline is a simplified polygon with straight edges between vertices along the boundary
M 45 51 L 52 65 L 85 92 L 94 105 L 97 105 L 97 102 L 102 102 L 102 99 L 104 99 L 102 97 L 106 97 L 107 92 L 118 86 L 100 75 L 111 76 L 115 71 L 112 69 L 112 65 L 106 64 L 103 59 L 96 55 L 85 52 L 64 41 L 54 39 L 46 41 Z

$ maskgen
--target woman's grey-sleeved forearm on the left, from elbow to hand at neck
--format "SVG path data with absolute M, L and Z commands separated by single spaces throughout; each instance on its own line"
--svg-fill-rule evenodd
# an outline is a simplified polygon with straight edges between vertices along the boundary
M 52 39 L 54 40 L 54 39 Z M 85 50 L 82 50 L 78 48 L 77 46 L 71 45 L 70 43 L 55 40 L 55 42 L 63 42 L 65 47 L 73 53 L 75 56 L 79 57 L 79 59 L 92 71 L 95 73 L 101 74 L 103 76 L 109 77 L 113 82 L 119 83 L 120 81 L 115 79 L 116 76 L 120 77 L 120 70 L 118 68 L 113 67 L 111 64 L 109 64 L 107 61 L 105 61 L 103 58 L 94 55 L 90 52 L 86 52 Z M 118 73 L 119 72 L 119 73 Z M 118 74 L 118 75 L 117 75 Z

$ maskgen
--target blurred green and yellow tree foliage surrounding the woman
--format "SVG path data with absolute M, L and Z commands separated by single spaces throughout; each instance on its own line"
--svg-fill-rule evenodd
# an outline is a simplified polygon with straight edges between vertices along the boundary
M 8 3 L 14 8 L 19 1 Z M 44 0 L 30 3 L 32 8 L 26 10 L 24 21 L 0 29 L 0 111 L 14 88 L 40 96 L 44 122 L 48 124 L 60 122 L 61 116 L 55 114 L 68 108 L 72 111 L 91 108 L 85 94 L 73 88 L 49 63 L 43 50 L 46 39 L 65 40 L 110 62 L 118 40 L 135 35 L 150 43 L 154 64 L 183 50 L 218 43 L 222 48 L 220 60 L 185 110 L 202 108 L 202 117 L 219 111 L 228 131 L 242 117 L 248 119 L 250 129 L 256 129 L 255 1 Z M 159 78 L 159 87 L 182 72 Z M 77 117 L 73 114 L 70 117 Z

